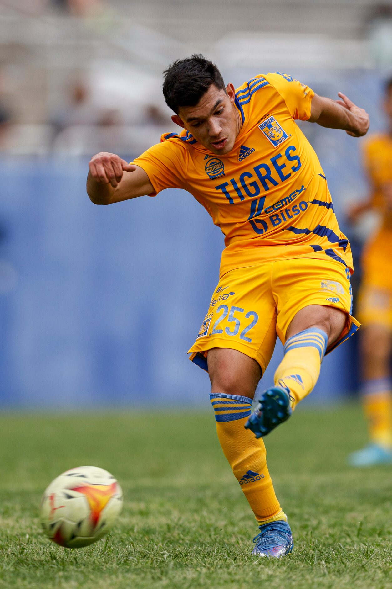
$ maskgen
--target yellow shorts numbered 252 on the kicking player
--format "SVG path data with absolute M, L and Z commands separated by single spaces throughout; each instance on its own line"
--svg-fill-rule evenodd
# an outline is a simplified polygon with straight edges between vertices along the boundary
M 276 336 L 284 344 L 294 316 L 308 305 L 347 313 L 343 333 L 329 352 L 360 326 L 351 316 L 350 271 L 340 262 L 314 254 L 230 270 L 213 293 L 189 358 L 207 370 L 208 350 L 230 348 L 257 360 L 264 373 Z

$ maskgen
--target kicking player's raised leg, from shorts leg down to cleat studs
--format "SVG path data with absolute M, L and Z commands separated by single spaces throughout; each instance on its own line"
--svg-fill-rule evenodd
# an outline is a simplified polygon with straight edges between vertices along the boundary
M 357 329 L 350 315 L 349 272 L 339 262 L 317 257 L 279 262 L 274 292 L 284 356 L 274 375 L 275 386 L 262 393 L 246 423 L 257 437 L 290 417 L 316 385 L 327 348 L 333 349 Z

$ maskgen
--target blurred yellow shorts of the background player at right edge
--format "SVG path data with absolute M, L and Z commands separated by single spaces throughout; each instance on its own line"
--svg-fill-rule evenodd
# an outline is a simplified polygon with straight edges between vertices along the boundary
M 358 315 L 364 326 L 392 329 L 392 230 L 382 229 L 364 247 Z

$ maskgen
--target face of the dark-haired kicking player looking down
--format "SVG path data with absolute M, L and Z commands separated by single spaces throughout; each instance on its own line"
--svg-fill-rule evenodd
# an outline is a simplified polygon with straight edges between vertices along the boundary
M 219 90 L 215 84 L 209 89 L 195 107 L 181 107 L 172 120 L 192 133 L 199 143 L 212 153 L 226 154 L 233 149 L 241 128 L 241 118 L 234 105 L 236 98 L 233 84 Z

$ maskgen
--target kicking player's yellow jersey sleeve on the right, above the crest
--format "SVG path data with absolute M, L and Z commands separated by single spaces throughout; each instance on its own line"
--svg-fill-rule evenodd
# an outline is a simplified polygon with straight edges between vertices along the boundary
M 295 120 L 307 121 L 309 119 L 311 99 L 314 96 L 314 92 L 309 86 L 301 84 L 292 76 L 281 72 L 264 75 L 264 78 L 282 96 Z

